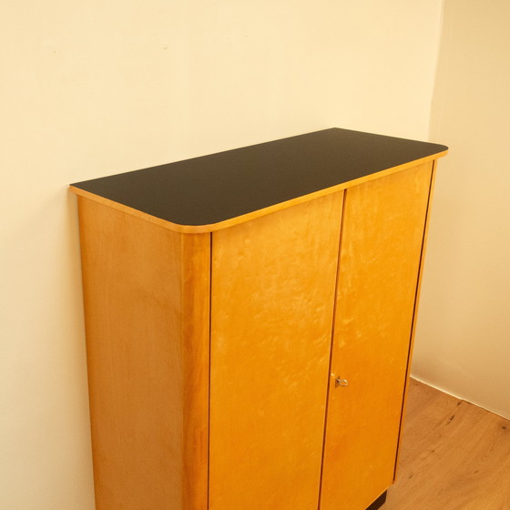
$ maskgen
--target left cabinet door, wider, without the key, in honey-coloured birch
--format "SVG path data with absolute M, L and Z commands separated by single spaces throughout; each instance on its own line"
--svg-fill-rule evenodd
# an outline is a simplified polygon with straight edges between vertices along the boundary
M 319 502 L 342 192 L 212 238 L 210 510 Z

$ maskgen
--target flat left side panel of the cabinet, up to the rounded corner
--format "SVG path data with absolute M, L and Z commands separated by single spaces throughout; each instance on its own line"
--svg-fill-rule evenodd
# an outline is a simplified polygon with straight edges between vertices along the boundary
M 79 215 L 97 510 L 180 510 L 190 341 L 182 234 L 83 198 Z

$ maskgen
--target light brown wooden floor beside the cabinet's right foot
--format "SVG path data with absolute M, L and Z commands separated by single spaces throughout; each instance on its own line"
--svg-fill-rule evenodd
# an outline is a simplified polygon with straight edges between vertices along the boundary
M 412 380 L 382 510 L 510 510 L 510 421 Z

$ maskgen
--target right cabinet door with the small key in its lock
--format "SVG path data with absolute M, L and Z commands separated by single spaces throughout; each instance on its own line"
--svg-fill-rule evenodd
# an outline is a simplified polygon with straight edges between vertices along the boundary
M 345 192 L 321 510 L 393 483 L 432 165 Z

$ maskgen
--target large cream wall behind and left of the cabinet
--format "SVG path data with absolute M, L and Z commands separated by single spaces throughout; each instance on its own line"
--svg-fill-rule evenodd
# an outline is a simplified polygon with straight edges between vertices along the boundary
M 2 11 L 0 507 L 91 510 L 67 184 L 321 128 L 427 138 L 441 0 Z

